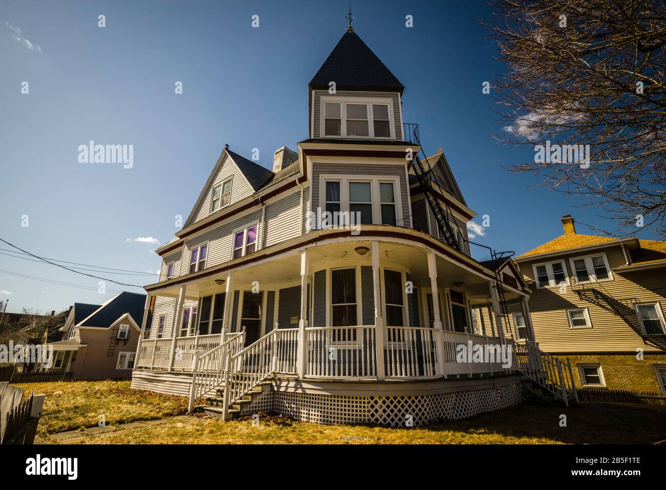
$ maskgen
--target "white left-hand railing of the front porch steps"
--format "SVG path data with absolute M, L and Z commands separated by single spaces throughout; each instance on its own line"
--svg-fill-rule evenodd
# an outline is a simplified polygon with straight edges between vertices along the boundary
M 240 351 L 244 343 L 245 328 L 204 354 L 194 353 L 188 411 L 194 410 L 194 400 L 214 393 L 215 389 L 222 384 L 226 375 L 224 362 L 227 356 L 232 356 Z

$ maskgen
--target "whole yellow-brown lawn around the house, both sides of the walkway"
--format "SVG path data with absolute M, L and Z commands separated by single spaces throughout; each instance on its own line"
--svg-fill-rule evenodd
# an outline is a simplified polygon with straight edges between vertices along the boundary
M 21 384 L 47 395 L 39 434 L 93 427 L 104 414 L 107 425 L 166 418 L 166 423 L 84 435 L 73 443 L 315 443 L 315 444 L 559 444 L 647 443 L 666 439 L 666 407 L 653 405 L 590 405 L 564 408 L 519 405 L 466 420 L 426 427 L 387 428 L 370 425 L 327 426 L 260 415 L 223 422 L 211 417 L 171 419 L 186 412 L 186 399 L 138 391 L 129 381 L 72 381 Z M 56 391 L 63 391 L 55 396 Z M 567 427 L 559 425 L 567 415 Z

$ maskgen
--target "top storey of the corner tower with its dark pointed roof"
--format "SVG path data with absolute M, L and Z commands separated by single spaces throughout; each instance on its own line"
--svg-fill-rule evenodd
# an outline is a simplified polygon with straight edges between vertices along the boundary
M 309 88 L 310 138 L 404 140 L 404 86 L 351 27 Z

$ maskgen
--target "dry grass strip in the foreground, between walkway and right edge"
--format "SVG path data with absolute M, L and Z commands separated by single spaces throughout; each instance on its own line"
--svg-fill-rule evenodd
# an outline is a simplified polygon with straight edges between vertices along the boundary
M 189 417 L 135 430 L 85 436 L 101 444 L 562 444 L 655 443 L 666 439 L 664 407 L 579 405 L 571 409 L 521 405 L 427 427 L 328 426 L 260 415 L 223 422 Z M 560 427 L 560 415 L 567 427 Z

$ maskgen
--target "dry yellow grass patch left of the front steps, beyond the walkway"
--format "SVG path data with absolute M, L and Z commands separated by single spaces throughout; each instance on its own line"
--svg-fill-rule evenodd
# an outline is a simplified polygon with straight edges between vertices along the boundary
M 131 389 L 129 381 L 58 381 L 18 383 L 24 397 L 47 395 L 37 433 L 53 434 L 94 427 L 99 415 L 107 425 L 153 420 L 187 411 L 187 399 Z M 58 391 L 61 394 L 55 395 Z

